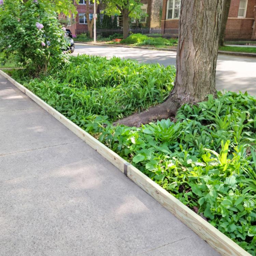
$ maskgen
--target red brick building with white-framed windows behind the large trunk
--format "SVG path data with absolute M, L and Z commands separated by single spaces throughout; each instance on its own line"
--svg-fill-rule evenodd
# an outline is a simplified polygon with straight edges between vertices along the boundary
M 180 0 L 163 0 L 161 29 L 178 36 Z M 231 0 L 225 39 L 256 40 L 256 0 Z

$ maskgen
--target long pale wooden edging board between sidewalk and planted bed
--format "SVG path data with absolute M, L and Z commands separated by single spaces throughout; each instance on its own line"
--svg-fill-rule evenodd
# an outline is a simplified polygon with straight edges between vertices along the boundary
M 103 145 L 89 133 L 81 129 L 79 126 L 71 122 L 68 118 L 60 114 L 57 110 L 49 106 L 38 96 L 33 94 L 23 85 L 16 82 L 8 74 L 0 70 L 0 75 L 8 79 L 19 90 L 25 93 L 34 102 L 40 105 L 49 114 L 54 116 L 60 123 L 65 125 L 68 129 L 74 132 L 80 139 L 85 141 L 89 146 L 94 148 L 99 154 L 110 161 L 115 167 L 123 172 L 129 179 L 140 186 L 146 193 L 155 198 L 163 207 L 170 211 L 180 221 L 192 229 L 203 240 L 207 241 L 217 252 L 221 255 L 227 256 L 250 256 L 243 248 L 233 242 L 230 238 L 225 236 L 221 231 L 213 227 L 210 223 L 201 218 L 198 214 L 190 210 L 186 205 L 181 203 L 178 199 L 168 193 L 165 189 L 160 187 L 149 177 L 139 171 L 136 167 L 130 165 L 122 157 Z

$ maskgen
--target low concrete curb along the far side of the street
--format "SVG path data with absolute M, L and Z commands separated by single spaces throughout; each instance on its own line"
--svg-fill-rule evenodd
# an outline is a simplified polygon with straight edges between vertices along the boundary
M 156 51 L 168 51 L 176 52 L 177 47 L 173 48 L 154 48 L 148 46 L 132 46 L 132 45 L 118 45 L 118 44 L 104 44 L 104 43 L 90 43 L 90 42 L 79 42 L 75 41 L 77 44 L 88 44 L 88 45 L 105 45 L 112 47 L 126 47 L 126 48 L 136 48 L 136 49 L 147 49 L 147 50 L 156 50 Z M 244 57 L 256 57 L 256 53 L 242 53 L 242 52 L 227 52 L 227 51 L 218 51 L 219 54 L 234 55 L 234 56 L 244 56 Z

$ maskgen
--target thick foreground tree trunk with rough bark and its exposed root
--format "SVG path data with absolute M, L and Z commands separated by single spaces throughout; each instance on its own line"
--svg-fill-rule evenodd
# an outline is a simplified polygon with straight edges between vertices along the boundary
M 140 126 L 174 116 L 184 103 L 196 104 L 216 95 L 215 73 L 224 0 L 181 0 L 176 78 L 169 98 L 117 123 Z

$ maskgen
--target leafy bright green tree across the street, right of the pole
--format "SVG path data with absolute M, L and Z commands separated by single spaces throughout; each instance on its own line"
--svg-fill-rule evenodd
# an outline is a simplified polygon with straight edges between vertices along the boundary
M 141 14 L 140 0 L 103 0 L 105 13 L 108 15 L 123 16 L 124 39 L 129 35 L 129 19 L 139 18 Z

